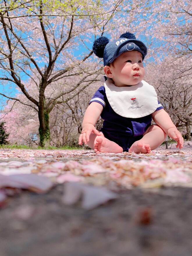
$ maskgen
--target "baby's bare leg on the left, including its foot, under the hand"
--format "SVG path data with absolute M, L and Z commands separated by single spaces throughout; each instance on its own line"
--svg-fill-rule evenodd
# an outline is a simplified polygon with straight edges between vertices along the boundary
M 123 149 L 117 143 L 108 140 L 104 137 L 91 134 L 87 145 L 92 148 L 97 154 L 99 153 L 122 153 Z

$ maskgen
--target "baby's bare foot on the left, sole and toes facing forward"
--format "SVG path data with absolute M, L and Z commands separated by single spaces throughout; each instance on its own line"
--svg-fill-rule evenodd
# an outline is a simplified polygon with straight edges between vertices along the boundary
M 103 138 L 96 138 L 94 143 L 94 151 L 99 153 L 122 153 L 123 149 L 113 141 Z

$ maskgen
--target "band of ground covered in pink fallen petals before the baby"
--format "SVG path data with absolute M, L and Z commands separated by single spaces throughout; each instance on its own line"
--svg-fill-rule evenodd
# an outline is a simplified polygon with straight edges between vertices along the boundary
M 10 188 L 29 189 L 42 193 L 65 182 L 105 186 L 115 191 L 136 186 L 145 189 L 178 184 L 191 186 L 192 143 L 186 142 L 182 150 L 174 146 L 172 145 L 171 150 L 165 150 L 161 146 L 151 154 L 1 149 L 0 203 L 3 204 L 6 200 L 7 188 L 9 191 Z M 96 197 L 93 196 L 92 200 L 97 200 L 99 205 Z M 101 203 L 103 201 L 105 202 L 101 198 Z

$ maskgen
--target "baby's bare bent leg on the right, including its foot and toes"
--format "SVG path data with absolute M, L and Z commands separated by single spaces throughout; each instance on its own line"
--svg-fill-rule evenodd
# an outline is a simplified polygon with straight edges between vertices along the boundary
M 159 147 L 166 138 L 166 133 L 158 125 L 150 125 L 143 134 L 143 138 L 136 141 L 129 148 L 129 152 L 149 154 L 151 150 Z

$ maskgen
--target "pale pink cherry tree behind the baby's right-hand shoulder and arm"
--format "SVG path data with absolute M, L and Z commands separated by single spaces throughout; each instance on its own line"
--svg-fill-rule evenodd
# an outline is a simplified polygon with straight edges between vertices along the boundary
M 185 127 L 186 139 L 191 140 L 192 74 L 191 56 L 175 58 L 168 55 L 158 64 L 147 66 L 146 80 L 154 85 L 159 101 L 170 114 L 176 127 Z

